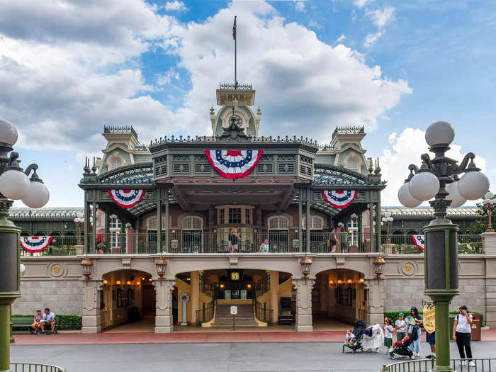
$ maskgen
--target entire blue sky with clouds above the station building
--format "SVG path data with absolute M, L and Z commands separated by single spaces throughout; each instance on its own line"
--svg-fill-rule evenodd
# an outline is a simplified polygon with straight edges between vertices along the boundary
M 496 182 L 496 4 L 492 1 L 5 1 L 0 15 L 0 117 L 36 161 L 49 205 L 81 205 L 86 154 L 103 125 L 133 125 L 142 142 L 208 134 L 219 81 L 252 82 L 261 135 L 329 142 L 336 125 L 366 125 L 398 205 L 423 132 L 446 120 L 452 156 L 478 155 Z M 23 22 L 18 22 L 19 19 Z M 492 83 L 491 83 L 492 81 Z

